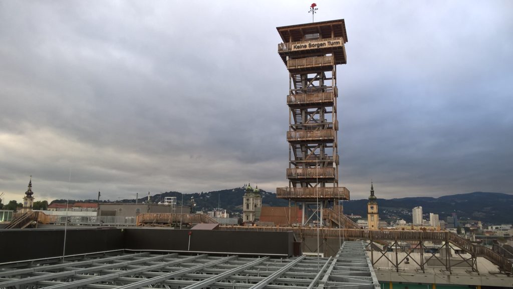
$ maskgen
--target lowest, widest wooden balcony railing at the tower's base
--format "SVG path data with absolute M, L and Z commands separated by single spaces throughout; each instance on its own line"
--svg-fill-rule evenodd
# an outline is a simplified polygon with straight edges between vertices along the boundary
M 285 187 L 276 188 L 276 196 L 281 199 L 293 200 L 315 200 L 320 199 L 341 199 L 349 200 L 349 190 L 345 187 Z

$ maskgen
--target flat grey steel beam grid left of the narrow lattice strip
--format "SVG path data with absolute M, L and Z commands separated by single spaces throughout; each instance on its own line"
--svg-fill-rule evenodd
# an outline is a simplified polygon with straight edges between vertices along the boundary
M 103 254 L 103 258 L 90 254 L 58 262 L 62 259 L 0 267 L 0 288 L 292 289 L 307 288 L 318 274 L 313 268 L 317 260 L 304 256 L 280 259 L 116 252 Z

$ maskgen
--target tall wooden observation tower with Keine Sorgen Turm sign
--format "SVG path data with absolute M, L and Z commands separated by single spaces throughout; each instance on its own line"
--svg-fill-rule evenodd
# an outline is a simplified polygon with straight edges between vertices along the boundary
M 349 190 L 339 187 L 337 65 L 346 64 L 344 20 L 278 27 L 278 53 L 289 71 L 288 187 L 278 198 L 300 203 L 303 224 L 323 220 Z M 319 217 L 320 213 L 320 217 Z M 317 214 L 317 216 L 315 216 Z

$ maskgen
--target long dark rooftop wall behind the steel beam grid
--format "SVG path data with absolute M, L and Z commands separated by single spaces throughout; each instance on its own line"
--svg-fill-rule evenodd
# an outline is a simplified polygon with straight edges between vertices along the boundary
M 0 229 L 0 263 L 61 257 L 63 246 L 64 228 Z M 169 228 L 87 228 L 66 232 L 67 256 L 122 249 L 292 256 L 293 233 Z

